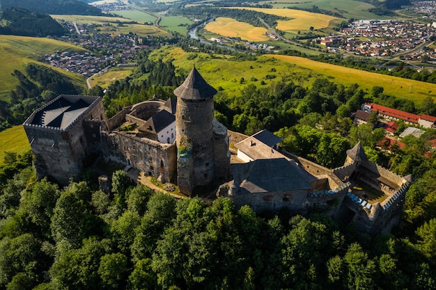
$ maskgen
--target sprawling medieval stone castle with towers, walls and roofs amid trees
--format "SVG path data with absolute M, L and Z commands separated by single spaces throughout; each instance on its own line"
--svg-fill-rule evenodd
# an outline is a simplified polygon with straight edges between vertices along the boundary
M 371 234 L 399 223 L 411 177 L 368 161 L 360 143 L 348 150 L 343 167 L 329 170 L 281 150 L 281 139 L 263 130 L 234 142 L 238 154 L 231 163 L 228 130 L 214 118 L 216 93 L 194 67 L 174 90 L 176 102 L 154 96 L 109 120 L 100 97 L 61 95 L 23 124 L 38 177 L 68 184 L 102 156 L 176 182 L 185 195 L 218 188 L 217 196 L 258 213 L 322 211 Z

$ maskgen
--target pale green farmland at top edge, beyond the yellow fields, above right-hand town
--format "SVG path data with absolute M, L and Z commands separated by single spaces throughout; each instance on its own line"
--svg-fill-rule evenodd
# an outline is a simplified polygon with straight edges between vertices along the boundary
M 330 10 L 332 12 L 339 13 L 346 18 L 355 19 L 380 19 L 379 15 L 368 12 L 369 8 L 374 8 L 370 3 L 364 3 L 355 0 L 311 0 L 311 1 L 295 1 L 295 0 L 280 0 L 280 1 L 262 1 L 261 3 L 267 3 L 274 8 L 286 8 L 286 7 L 299 7 L 299 8 L 312 8 L 312 6 L 318 6 L 321 9 Z

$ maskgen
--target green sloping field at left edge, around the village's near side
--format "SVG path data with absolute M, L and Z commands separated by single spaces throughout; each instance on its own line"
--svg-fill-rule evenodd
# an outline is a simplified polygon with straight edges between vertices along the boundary
M 15 76 L 12 75 L 14 70 L 24 71 L 24 65 L 27 63 L 39 63 L 38 58 L 45 54 L 54 54 L 56 51 L 84 51 L 84 49 L 49 38 L 0 35 L 0 99 L 8 102 L 10 91 L 18 84 Z M 84 86 L 81 76 L 60 71 L 72 77 L 79 86 Z

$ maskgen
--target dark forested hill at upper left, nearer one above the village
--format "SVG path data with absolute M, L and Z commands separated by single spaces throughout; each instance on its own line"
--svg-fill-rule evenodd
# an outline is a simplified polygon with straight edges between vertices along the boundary
M 64 35 L 67 31 L 49 15 L 23 8 L 8 8 L 0 12 L 0 34 L 37 36 Z

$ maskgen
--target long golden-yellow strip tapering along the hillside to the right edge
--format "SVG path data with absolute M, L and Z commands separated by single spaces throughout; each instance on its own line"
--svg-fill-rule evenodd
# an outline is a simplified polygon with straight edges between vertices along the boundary
M 343 83 L 344 86 L 358 83 L 360 88 L 368 91 L 371 90 L 373 86 L 382 86 L 385 94 L 410 99 L 415 102 L 415 104 L 421 104 L 422 100 L 428 96 L 436 97 L 435 83 L 425 83 L 423 81 L 403 79 L 397 76 L 355 70 L 349 67 L 341 67 L 340 65 L 311 61 L 298 56 L 279 56 L 272 54 L 268 56 L 280 61 L 293 63 L 300 67 L 309 68 L 325 76 L 332 76 L 334 78 L 332 81 L 335 83 Z

